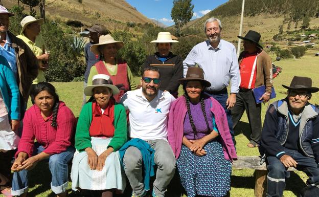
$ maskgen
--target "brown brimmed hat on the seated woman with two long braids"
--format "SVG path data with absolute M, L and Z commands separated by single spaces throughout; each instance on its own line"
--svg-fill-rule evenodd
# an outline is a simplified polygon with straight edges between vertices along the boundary
M 204 71 L 199 67 L 190 67 L 187 70 L 186 77 L 178 80 L 180 84 L 188 81 L 202 81 L 205 87 L 210 87 L 211 83 L 204 79 Z

